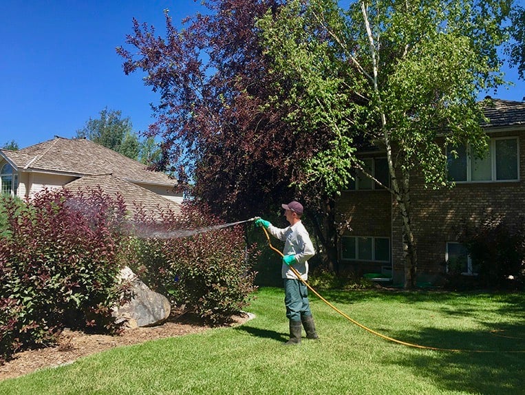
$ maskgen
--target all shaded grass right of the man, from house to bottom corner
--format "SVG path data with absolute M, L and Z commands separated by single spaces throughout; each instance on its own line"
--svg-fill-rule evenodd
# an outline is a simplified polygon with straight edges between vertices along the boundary
M 435 310 L 445 317 L 473 317 L 482 329 L 418 327 L 414 330 L 386 328 L 383 331 L 381 328 L 374 328 L 407 343 L 462 350 L 425 352 L 416 348 L 403 348 L 399 352 L 388 353 L 383 363 L 403 366 L 406 370 L 411 370 L 414 376 L 429 379 L 446 391 L 469 394 L 525 394 L 524 294 L 433 290 L 327 290 L 319 293 L 334 305 L 343 305 L 343 310 L 351 310 L 352 304 L 356 303 L 371 302 L 379 308 L 383 306 L 382 303 L 385 303 L 385 307 L 388 306 L 389 302 L 394 305 L 421 303 L 421 308 Z M 317 297 L 312 295 L 310 299 Z M 485 307 L 482 301 L 487 299 L 491 299 L 491 303 Z M 394 314 L 395 311 L 394 308 Z M 491 319 L 484 319 L 484 311 Z M 497 319 L 498 315 L 506 318 L 500 322 Z

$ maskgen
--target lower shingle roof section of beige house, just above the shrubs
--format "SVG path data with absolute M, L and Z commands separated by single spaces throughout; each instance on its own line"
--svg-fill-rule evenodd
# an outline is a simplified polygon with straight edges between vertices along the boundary
M 95 189 L 98 186 L 109 195 L 120 193 L 126 202 L 127 209 L 131 212 L 136 211 L 135 204 L 140 204 L 145 211 L 155 215 L 167 210 L 180 212 L 180 204 L 111 174 L 86 175 L 69 182 L 64 188 L 78 191 Z

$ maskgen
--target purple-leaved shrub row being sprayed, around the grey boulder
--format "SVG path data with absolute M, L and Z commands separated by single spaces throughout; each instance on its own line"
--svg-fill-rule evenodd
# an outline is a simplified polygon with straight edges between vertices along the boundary
M 256 289 L 242 227 L 190 235 L 219 224 L 200 206 L 161 218 L 139 207 L 130 221 L 122 198 L 100 189 L 0 199 L 0 364 L 65 327 L 118 332 L 111 309 L 129 297 L 117 280 L 125 265 L 208 323 L 228 321 Z

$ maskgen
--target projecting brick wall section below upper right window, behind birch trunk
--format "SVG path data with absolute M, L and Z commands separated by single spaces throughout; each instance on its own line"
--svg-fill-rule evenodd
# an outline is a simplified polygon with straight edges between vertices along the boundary
M 518 131 L 491 137 L 520 136 L 519 181 L 458 183 L 451 189 L 425 189 L 422 178 L 411 178 L 412 226 L 418 253 L 418 281 L 440 284 L 446 273 L 447 242 L 458 241 L 465 223 L 477 225 L 484 213 L 516 217 L 525 214 L 525 134 Z M 392 260 L 394 281 L 404 281 L 401 218 L 393 211 Z

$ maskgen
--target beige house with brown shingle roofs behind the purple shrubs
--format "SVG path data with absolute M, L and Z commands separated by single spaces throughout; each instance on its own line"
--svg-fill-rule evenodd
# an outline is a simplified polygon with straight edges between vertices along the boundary
M 1 191 L 22 199 L 44 188 L 100 186 L 105 193 L 120 193 L 130 211 L 139 204 L 156 214 L 162 209 L 180 211 L 182 193 L 174 191 L 176 183 L 85 138 L 55 137 L 19 151 L 0 149 Z

